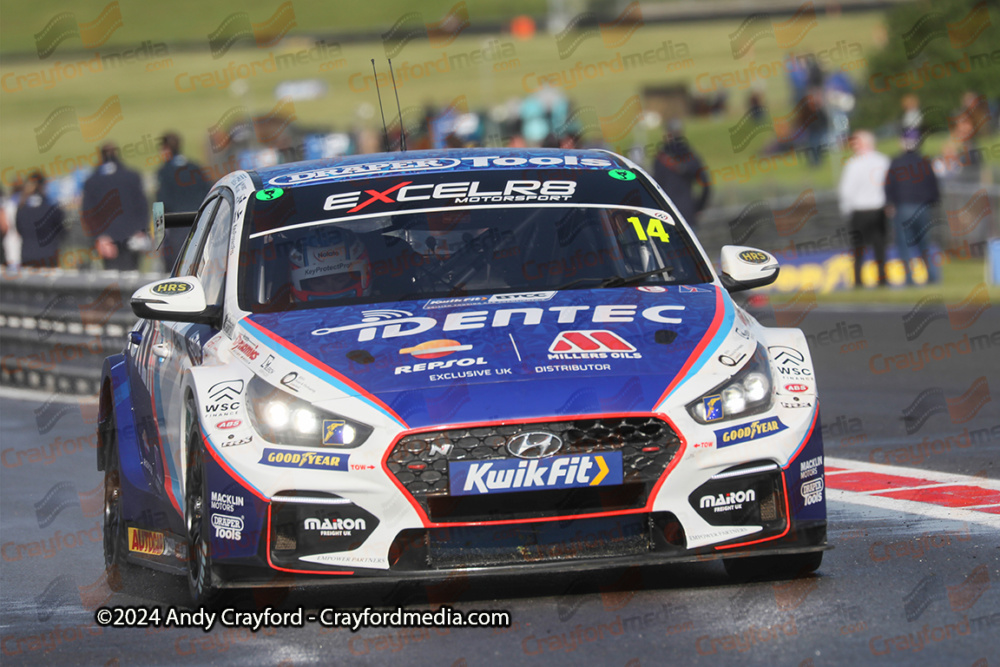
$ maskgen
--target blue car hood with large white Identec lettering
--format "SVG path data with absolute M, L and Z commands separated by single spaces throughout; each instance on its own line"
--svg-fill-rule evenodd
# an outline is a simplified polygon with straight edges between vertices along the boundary
M 247 336 L 418 428 L 652 411 L 732 314 L 714 285 L 458 297 L 251 315 L 236 347 Z

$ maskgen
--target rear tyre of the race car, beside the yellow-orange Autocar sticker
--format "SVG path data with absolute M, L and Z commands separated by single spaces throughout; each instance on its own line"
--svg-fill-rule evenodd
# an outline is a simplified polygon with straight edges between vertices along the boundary
M 118 458 L 118 428 L 114 410 L 111 422 L 104 429 L 104 571 L 108 587 L 115 592 L 127 590 L 135 583 L 136 566 L 128 562 L 128 527 L 122 509 L 122 472 Z

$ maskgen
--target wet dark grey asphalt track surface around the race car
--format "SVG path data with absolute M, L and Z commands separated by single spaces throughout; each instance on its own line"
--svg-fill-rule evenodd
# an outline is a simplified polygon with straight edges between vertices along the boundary
M 1000 309 L 976 318 L 911 320 L 912 340 L 904 314 L 825 309 L 797 324 L 817 336 L 812 351 L 827 455 L 1000 478 Z M 795 314 L 764 312 L 761 319 L 796 325 Z M 926 326 L 920 329 L 921 324 Z M 842 340 L 832 341 L 838 330 Z M 981 338 L 975 349 L 962 344 L 966 335 L 971 341 L 991 334 L 992 347 L 982 347 Z M 935 359 L 938 348 L 950 349 L 951 356 L 940 352 L 942 358 Z M 919 363 L 921 349 L 928 361 L 920 370 L 897 368 L 893 361 L 886 371 L 887 357 L 899 360 L 913 352 Z M 982 400 L 979 385 L 978 408 L 956 403 L 976 391 L 981 377 L 990 400 Z M 907 429 L 903 411 L 927 389 L 935 391 L 925 395 Z M 185 583 L 150 571 L 129 594 L 108 588 L 99 515 L 102 475 L 90 444 L 93 407 L 50 405 L 39 411 L 37 397 L 9 396 L 0 405 L 0 660 L 5 665 L 985 667 L 1000 662 L 1000 531 L 834 501 L 828 511 L 836 548 L 826 553 L 816 576 L 790 582 L 736 585 L 717 562 L 576 577 L 453 577 L 431 586 L 247 593 L 238 605 L 426 609 L 445 603 L 462 610 L 509 610 L 513 626 L 351 633 L 307 624 L 256 634 L 218 626 L 208 634 L 101 629 L 93 616 L 98 605 L 183 605 Z M 59 456 L 31 460 L 32 448 L 48 449 L 58 439 Z M 58 496 L 50 496 L 47 513 L 39 513 L 36 503 L 50 491 Z M 55 497 L 60 502 L 53 503 Z M 55 545 L 59 550 L 50 553 Z

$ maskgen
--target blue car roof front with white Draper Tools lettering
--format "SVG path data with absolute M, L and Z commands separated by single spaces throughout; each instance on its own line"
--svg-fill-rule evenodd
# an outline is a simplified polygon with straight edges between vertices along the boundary
M 575 158 L 569 160 L 570 164 L 567 164 L 566 158 Z M 401 172 L 419 171 L 419 169 L 408 169 L 409 163 L 424 163 L 428 164 L 431 161 L 447 161 L 450 164 L 455 164 L 457 160 L 459 163 L 460 170 L 465 170 L 477 166 L 480 169 L 489 168 L 488 165 L 477 163 L 474 158 L 480 158 L 484 160 L 486 158 L 502 159 L 502 158 L 520 158 L 523 159 L 523 163 L 518 163 L 518 169 L 586 169 L 588 168 L 584 160 L 602 160 L 604 164 L 610 162 L 610 165 L 604 166 L 606 169 L 629 169 L 630 166 L 622 161 L 622 158 L 610 151 L 599 150 L 599 149 L 584 149 L 584 150 L 569 150 L 561 148 L 451 148 L 451 149 L 440 149 L 440 150 L 418 150 L 418 151 L 406 151 L 404 152 L 394 152 L 394 153 L 365 153 L 360 155 L 345 155 L 341 157 L 334 158 L 324 158 L 321 160 L 308 160 L 303 162 L 290 162 L 287 164 L 275 165 L 273 167 L 266 167 L 262 169 L 257 169 L 251 172 L 252 175 L 258 177 L 260 181 L 267 184 L 271 179 L 282 178 L 281 186 L 285 187 L 298 187 L 300 185 L 310 185 L 312 182 L 309 179 L 304 179 L 303 181 L 296 183 L 290 182 L 295 181 L 293 177 L 295 175 L 305 175 L 305 174 L 315 174 L 317 172 L 323 172 L 327 170 L 343 170 L 349 167 L 358 167 L 359 169 L 355 172 L 354 178 L 378 178 L 380 176 L 390 176 Z M 553 158 L 560 158 L 560 162 L 554 162 Z M 491 161 L 492 163 L 492 161 Z M 510 169 L 514 163 L 508 163 L 507 165 L 497 165 L 497 169 L 507 168 Z M 361 169 L 363 167 L 369 167 L 368 169 Z M 457 170 L 459 168 L 456 168 Z M 592 167 L 591 167 L 592 168 Z M 442 171 L 441 169 L 433 169 L 433 171 Z M 447 169 L 444 169 L 447 171 Z

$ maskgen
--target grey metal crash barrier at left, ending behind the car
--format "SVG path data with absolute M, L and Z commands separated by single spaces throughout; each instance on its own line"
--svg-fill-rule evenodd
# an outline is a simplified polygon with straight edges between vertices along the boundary
M 0 384 L 94 395 L 135 323 L 132 293 L 159 274 L 21 269 L 0 275 Z

